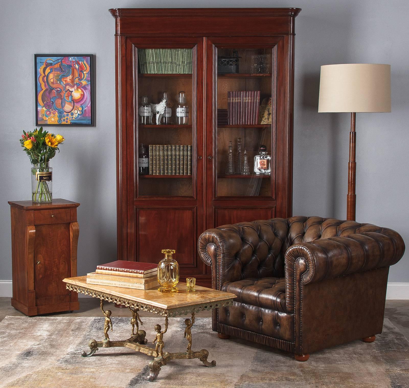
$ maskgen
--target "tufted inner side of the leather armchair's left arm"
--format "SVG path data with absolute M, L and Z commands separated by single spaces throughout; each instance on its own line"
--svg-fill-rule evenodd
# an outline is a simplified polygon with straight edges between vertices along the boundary
M 240 222 L 234 225 L 223 225 L 217 228 L 223 235 L 233 241 L 241 239 L 241 244 L 229 245 L 228 278 L 246 279 L 249 277 L 283 277 L 284 256 L 281 253 L 283 242 L 288 233 L 288 222 L 282 218 Z

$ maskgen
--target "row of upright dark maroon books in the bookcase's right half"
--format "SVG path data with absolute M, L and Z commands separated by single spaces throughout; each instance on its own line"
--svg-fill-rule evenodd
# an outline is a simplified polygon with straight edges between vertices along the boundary
M 258 124 L 259 104 L 260 90 L 227 92 L 228 124 Z

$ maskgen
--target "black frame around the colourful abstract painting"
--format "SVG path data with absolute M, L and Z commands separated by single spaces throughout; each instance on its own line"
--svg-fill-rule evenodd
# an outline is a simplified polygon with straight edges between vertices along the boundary
M 57 121 L 56 123 L 45 123 L 45 122 L 41 122 L 41 120 L 39 120 L 39 114 L 38 114 L 38 93 L 40 92 L 40 90 L 38 90 L 38 86 L 39 86 L 39 68 L 38 68 L 38 58 L 58 58 L 58 57 L 89 57 L 90 59 L 90 63 L 89 63 L 89 81 L 90 81 L 90 88 L 89 88 L 89 93 L 90 93 L 90 107 L 89 107 L 89 111 L 90 111 L 90 119 L 89 119 L 89 123 L 81 123 L 80 121 L 75 121 L 76 117 L 74 117 L 74 119 L 70 122 L 70 123 L 64 123 L 63 122 L 63 117 L 59 117 L 60 115 L 58 115 L 58 108 L 55 109 L 55 111 L 57 112 Z M 36 126 L 65 126 L 65 127 L 70 127 L 70 126 L 95 126 L 95 65 L 94 65 L 95 61 L 94 61 L 94 54 L 34 54 L 34 86 L 35 86 L 35 100 L 34 100 L 34 107 L 35 107 L 35 117 L 36 117 Z M 88 77 L 87 77 L 88 78 Z M 61 108 L 62 109 L 62 108 Z M 71 115 L 71 113 L 70 113 Z M 75 115 L 75 114 L 74 114 Z M 81 113 L 79 114 L 81 115 Z M 66 118 L 66 117 L 64 117 Z M 61 123 L 58 122 L 59 120 L 61 120 Z

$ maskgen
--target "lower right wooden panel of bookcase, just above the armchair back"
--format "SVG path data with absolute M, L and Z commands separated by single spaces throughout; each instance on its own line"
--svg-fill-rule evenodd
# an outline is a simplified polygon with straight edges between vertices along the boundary
M 274 208 L 216 208 L 216 226 L 274 218 Z

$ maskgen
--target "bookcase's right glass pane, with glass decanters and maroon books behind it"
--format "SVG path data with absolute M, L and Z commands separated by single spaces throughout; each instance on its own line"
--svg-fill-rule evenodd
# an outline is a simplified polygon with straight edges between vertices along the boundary
M 274 63 L 270 47 L 215 48 L 216 197 L 272 197 Z

